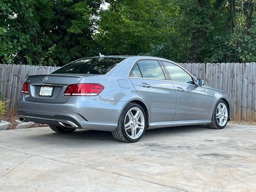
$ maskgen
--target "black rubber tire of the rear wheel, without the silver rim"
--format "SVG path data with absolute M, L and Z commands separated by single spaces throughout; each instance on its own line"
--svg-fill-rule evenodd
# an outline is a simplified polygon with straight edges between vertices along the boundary
M 124 128 L 124 119 L 125 119 L 125 116 L 126 116 L 127 112 L 128 112 L 131 108 L 133 108 L 133 107 L 137 107 L 137 108 L 139 108 L 139 109 L 142 111 L 142 113 L 143 113 L 143 115 L 144 115 L 144 120 L 145 120 L 145 122 L 144 122 L 144 125 L 145 125 L 145 126 L 144 126 L 144 130 L 143 130 L 142 134 L 140 135 L 140 137 L 139 137 L 139 138 L 136 138 L 136 139 L 132 139 L 132 138 L 128 137 L 127 134 L 126 134 L 125 128 Z M 120 118 L 119 118 L 119 120 L 118 120 L 118 126 L 117 126 L 116 130 L 114 130 L 114 131 L 112 132 L 112 135 L 114 136 L 114 138 L 115 138 L 116 140 L 118 140 L 118 141 L 120 141 L 120 142 L 126 142 L 126 143 L 137 142 L 137 141 L 140 140 L 140 139 L 142 138 L 142 136 L 144 135 L 147 126 L 148 126 L 148 120 L 147 120 L 146 113 L 145 113 L 144 109 L 142 108 L 142 106 L 140 106 L 140 105 L 137 104 L 137 103 L 128 103 L 128 104 L 124 107 L 124 109 L 123 109 L 123 111 L 122 111 L 122 113 L 121 113 L 121 115 L 120 115 Z

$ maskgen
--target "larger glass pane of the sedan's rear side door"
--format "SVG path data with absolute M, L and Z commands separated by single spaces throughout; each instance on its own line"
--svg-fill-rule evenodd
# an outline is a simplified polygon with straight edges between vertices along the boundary
M 140 60 L 138 66 L 144 78 L 164 79 L 164 72 L 156 60 Z

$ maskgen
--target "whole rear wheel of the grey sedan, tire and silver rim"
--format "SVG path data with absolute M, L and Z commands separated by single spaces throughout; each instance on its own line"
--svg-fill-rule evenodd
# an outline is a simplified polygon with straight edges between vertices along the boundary
M 129 103 L 125 106 L 118 120 L 114 138 L 121 142 L 137 142 L 142 138 L 147 126 L 147 118 L 142 106 Z

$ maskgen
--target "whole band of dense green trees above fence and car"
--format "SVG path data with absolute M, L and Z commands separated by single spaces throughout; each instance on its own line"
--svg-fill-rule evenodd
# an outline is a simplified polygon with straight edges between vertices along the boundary
M 62 66 L 82 57 L 255 62 L 253 0 L 0 0 L 0 60 Z

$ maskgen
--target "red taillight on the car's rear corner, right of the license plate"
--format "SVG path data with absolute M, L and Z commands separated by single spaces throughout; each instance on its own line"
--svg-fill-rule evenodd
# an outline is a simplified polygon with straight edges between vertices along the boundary
M 104 86 L 98 83 L 71 84 L 66 88 L 67 96 L 96 96 L 102 92 Z

